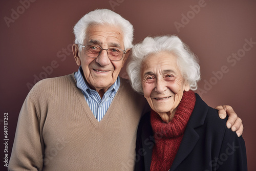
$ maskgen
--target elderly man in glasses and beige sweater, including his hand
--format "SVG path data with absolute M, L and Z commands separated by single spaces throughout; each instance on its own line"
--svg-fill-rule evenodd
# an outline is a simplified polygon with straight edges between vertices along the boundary
M 118 77 L 132 48 L 133 26 L 110 10 L 95 10 L 79 20 L 74 33 L 73 54 L 80 67 L 41 80 L 29 92 L 9 170 L 134 168 L 137 126 L 147 105 Z M 241 134 L 241 119 L 230 113 L 229 127 L 240 126 Z

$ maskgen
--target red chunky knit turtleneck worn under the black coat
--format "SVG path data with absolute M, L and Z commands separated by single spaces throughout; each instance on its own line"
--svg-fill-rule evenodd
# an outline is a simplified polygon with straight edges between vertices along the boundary
M 174 118 L 164 123 L 161 117 L 151 110 L 151 125 L 156 144 L 153 147 L 150 170 L 169 170 L 180 146 L 184 131 L 196 103 L 195 93 L 183 93 Z

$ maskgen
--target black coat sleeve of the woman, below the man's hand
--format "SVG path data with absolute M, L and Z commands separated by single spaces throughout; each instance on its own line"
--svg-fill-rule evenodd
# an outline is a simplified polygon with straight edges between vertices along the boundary
M 242 136 L 226 128 L 220 155 L 215 158 L 217 170 L 247 170 L 245 142 Z

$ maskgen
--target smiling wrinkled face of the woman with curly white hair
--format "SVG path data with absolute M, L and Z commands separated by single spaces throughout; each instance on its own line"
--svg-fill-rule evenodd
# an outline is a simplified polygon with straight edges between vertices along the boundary
M 172 53 L 149 55 L 142 63 L 141 77 L 144 97 L 158 114 L 175 112 L 183 91 L 189 90 Z

